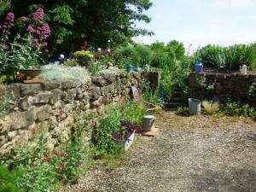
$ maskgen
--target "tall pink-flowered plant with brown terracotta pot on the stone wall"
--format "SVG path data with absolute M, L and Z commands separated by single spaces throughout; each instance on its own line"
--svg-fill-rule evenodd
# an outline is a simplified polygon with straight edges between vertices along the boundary
M 11 31 L 15 26 L 20 33 L 14 35 Z M 45 47 L 50 35 L 49 25 L 44 22 L 44 10 L 38 9 L 31 19 L 22 16 L 17 20 L 14 13 L 10 12 L 1 32 L 0 73 L 4 76 L 3 81 L 37 76 L 40 73 L 38 68 L 43 63 L 42 55 L 48 52 Z

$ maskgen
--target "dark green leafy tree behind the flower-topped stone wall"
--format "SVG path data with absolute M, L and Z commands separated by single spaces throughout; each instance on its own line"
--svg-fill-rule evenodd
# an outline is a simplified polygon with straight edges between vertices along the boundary
M 72 51 L 80 49 L 86 40 L 90 45 L 106 48 L 126 44 L 137 35 L 150 35 L 135 25 L 149 22 L 143 11 L 152 6 L 150 0 L 13 0 L 15 15 L 29 15 L 43 8 L 52 29 L 51 45 Z

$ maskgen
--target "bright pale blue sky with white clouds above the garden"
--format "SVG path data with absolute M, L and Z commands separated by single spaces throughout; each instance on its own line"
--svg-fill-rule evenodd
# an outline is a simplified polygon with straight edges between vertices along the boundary
M 256 0 L 152 0 L 145 12 L 151 22 L 137 26 L 154 32 L 138 43 L 168 43 L 176 39 L 185 47 L 207 44 L 249 44 L 256 41 Z

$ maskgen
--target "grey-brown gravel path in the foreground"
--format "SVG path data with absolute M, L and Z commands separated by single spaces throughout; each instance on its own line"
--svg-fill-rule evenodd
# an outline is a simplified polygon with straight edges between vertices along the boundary
M 136 137 L 122 166 L 96 167 L 61 191 L 256 191 L 256 123 L 157 115 L 157 137 Z

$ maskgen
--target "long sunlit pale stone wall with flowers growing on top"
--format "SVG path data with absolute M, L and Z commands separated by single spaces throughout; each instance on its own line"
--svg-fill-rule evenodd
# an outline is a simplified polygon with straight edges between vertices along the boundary
M 11 93 L 14 103 L 0 120 L 0 156 L 40 131 L 49 133 L 49 148 L 65 143 L 75 114 L 98 110 L 120 97 L 129 99 L 131 85 L 138 87 L 142 77 L 150 80 L 150 74 L 121 72 L 91 76 L 86 83 L 61 80 L 5 86 L 2 95 Z

